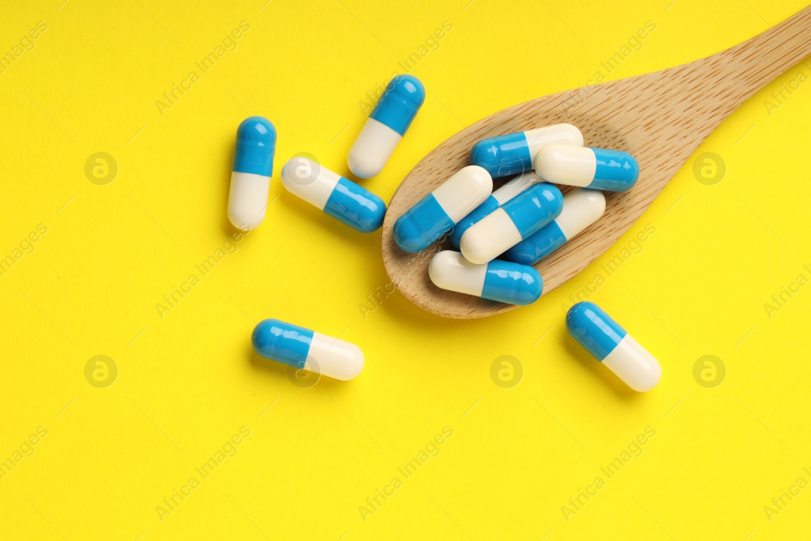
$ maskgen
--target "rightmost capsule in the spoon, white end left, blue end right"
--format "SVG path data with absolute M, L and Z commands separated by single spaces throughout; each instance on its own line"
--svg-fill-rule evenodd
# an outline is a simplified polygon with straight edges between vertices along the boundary
M 550 144 L 535 156 L 535 173 L 553 184 L 625 191 L 639 178 L 639 164 L 628 152 Z

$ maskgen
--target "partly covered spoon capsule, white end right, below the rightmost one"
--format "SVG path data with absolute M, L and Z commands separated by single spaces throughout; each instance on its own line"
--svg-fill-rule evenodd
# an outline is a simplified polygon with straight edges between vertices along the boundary
M 597 221 L 605 209 L 606 197 L 602 191 L 575 188 L 563 196 L 560 216 L 505 251 L 502 257 L 516 263 L 534 265 Z

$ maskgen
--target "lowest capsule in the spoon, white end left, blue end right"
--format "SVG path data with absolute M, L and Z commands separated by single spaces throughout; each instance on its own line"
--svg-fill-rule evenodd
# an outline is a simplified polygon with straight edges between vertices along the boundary
M 534 303 L 543 293 L 541 275 L 532 267 L 500 260 L 477 265 L 458 251 L 434 255 L 428 277 L 443 290 L 520 306 Z

